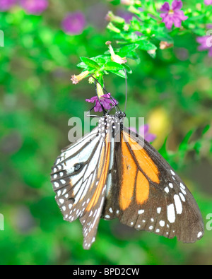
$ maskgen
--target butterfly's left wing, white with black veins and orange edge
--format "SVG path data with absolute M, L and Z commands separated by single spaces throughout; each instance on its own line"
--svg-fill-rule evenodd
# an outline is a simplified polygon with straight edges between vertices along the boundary
M 52 167 L 52 184 L 64 220 L 83 225 L 84 249 L 95 241 L 105 203 L 110 142 L 98 127 L 62 151 Z

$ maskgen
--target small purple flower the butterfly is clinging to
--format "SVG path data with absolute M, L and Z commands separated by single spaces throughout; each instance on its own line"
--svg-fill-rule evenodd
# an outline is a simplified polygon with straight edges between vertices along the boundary
M 104 109 L 111 109 L 114 105 L 118 104 L 117 100 L 110 97 L 110 93 L 102 95 L 100 98 L 98 98 L 98 96 L 94 96 L 91 99 L 86 99 L 86 102 L 95 102 L 95 112 L 102 112 L 102 107 L 104 107 Z M 100 102 L 102 106 L 100 105 Z

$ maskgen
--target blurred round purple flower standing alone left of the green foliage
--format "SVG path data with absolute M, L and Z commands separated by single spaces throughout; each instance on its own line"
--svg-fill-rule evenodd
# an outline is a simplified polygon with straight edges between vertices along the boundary
M 75 13 L 69 13 L 61 23 L 62 29 L 69 35 L 80 35 L 86 26 L 86 18 L 77 11 Z

